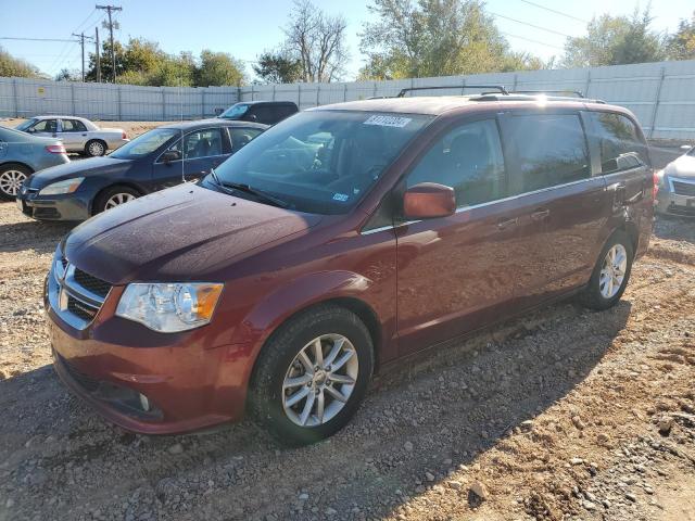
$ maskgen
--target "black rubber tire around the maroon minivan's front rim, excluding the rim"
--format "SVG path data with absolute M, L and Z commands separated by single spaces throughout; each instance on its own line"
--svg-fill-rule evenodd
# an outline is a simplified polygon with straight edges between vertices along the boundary
M 321 424 L 301 427 L 290 420 L 283 409 L 285 377 L 294 358 L 312 340 L 331 333 L 345 336 L 354 346 L 358 360 L 356 383 L 336 416 Z M 324 440 L 342 429 L 354 416 L 367 392 L 372 368 L 374 346 L 364 322 L 343 307 L 313 307 L 282 325 L 263 347 L 249 389 L 250 416 L 285 445 L 306 445 Z

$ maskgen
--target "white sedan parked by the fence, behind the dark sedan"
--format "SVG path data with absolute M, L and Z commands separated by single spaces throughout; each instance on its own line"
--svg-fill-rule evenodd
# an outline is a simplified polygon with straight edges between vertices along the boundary
M 33 136 L 58 138 L 67 152 L 78 152 L 91 157 L 104 155 L 128 141 L 121 128 L 99 128 L 89 119 L 76 116 L 36 116 L 15 127 Z

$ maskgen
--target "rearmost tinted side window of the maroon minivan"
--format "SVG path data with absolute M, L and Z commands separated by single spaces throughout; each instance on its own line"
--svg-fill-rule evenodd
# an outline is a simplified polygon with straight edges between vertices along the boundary
M 593 112 L 603 174 L 627 170 L 647 163 L 647 148 L 634 124 L 621 114 Z

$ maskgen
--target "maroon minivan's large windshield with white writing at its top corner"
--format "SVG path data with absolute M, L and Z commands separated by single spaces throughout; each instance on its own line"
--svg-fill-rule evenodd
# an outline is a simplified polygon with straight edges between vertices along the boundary
M 217 178 L 252 187 L 300 212 L 344 214 L 431 119 L 413 114 L 303 112 L 232 155 L 216 170 Z

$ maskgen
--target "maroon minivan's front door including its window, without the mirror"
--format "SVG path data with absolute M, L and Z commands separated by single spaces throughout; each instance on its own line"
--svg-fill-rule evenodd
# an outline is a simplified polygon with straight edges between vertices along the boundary
M 505 200 L 505 162 L 494 118 L 463 123 L 437 141 L 407 187 L 454 188 L 457 212 L 396 227 L 400 354 L 480 328 L 508 312 L 523 245 Z M 519 250 L 520 249 L 520 250 Z

